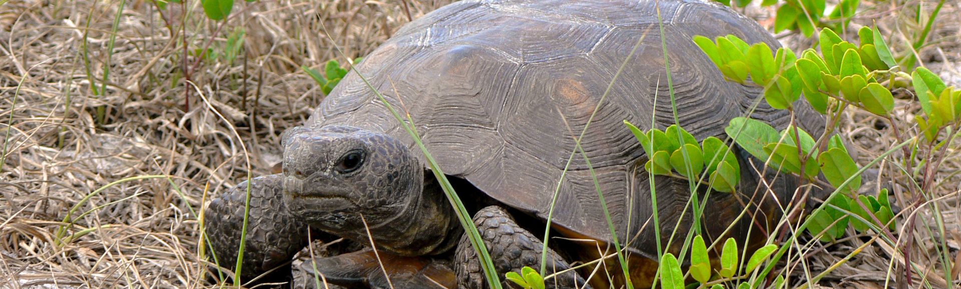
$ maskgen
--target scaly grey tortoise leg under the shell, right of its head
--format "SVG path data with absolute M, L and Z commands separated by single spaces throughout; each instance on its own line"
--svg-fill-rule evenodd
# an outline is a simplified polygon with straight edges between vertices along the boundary
M 507 272 L 520 274 L 525 266 L 535 270 L 540 268 L 544 243 L 527 229 L 518 226 L 503 208 L 491 205 L 480 209 L 474 216 L 474 225 L 478 227 L 480 237 L 487 246 L 498 277 L 504 285 L 508 282 L 504 277 Z M 571 268 L 569 263 L 554 250 L 548 248 L 547 253 L 549 263 L 545 275 Z M 460 288 L 487 288 L 486 279 L 480 268 L 480 258 L 471 246 L 467 234 L 464 234 L 457 244 L 454 264 Z M 545 283 L 546 288 L 592 288 L 590 285 L 585 285 L 584 279 L 573 270 L 546 279 Z

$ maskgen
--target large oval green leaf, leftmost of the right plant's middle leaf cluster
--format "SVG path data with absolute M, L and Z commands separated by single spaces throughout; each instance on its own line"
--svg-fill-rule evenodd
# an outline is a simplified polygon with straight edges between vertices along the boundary
M 743 130 L 742 127 L 744 128 Z M 760 159 L 768 158 L 768 154 L 764 152 L 764 146 L 772 142 L 777 142 L 778 136 L 780 135 L 771 125 L 745 117 L 732 118 L 724 130 L 727 132 L 727 136 L 734 139 L 737 145 L 741 146 L 742 149 L 752 156 Z

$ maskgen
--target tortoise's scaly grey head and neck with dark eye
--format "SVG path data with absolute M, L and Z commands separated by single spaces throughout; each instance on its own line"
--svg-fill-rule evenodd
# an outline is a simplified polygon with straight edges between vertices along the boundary
M 407 145 L 381 132 L 329 126 L 283 135 L 291 214 L 361 244 L 370 244 L 369 229 L 393 253 L 442 253 L 456 243 L 456 215 L 443 195 L 425 190 L 424 170 Z

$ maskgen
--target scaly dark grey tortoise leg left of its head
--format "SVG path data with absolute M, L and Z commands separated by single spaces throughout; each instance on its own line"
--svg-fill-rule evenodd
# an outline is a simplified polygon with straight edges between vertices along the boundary
M 251 180 L 247 244 L 241 270 L 244 282 L 275 268 L 261 280 L 289 280 L 288 261 L 307 246 L 307 223 L 291 216 L 283 205 L 283 178 L 277 174 Z M 246 198 L 247 181 L 243 181 L 210 201 L 205 213 L 204 224 L 212 253 L 219 266 L 231 270 L 235 269 L 240 246 Z

